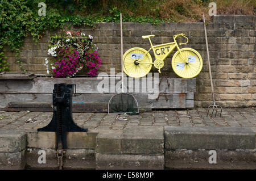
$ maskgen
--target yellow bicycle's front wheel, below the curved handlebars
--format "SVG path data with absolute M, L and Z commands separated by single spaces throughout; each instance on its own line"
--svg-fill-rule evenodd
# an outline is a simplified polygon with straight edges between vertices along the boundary
M 172 57 L 172 69 L 179 77 L 196 77 L 203 68 L 201 55 L 192 48 L 182 48 L 180 52 L 177 51 Z

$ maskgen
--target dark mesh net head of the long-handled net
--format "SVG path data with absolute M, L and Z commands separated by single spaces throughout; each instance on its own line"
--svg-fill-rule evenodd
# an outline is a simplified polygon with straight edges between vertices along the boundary
M 138 115 L 138 102 L 132 94 L 119 93 L 110 98 L 108 113 L 127 113 L 128 115 Z

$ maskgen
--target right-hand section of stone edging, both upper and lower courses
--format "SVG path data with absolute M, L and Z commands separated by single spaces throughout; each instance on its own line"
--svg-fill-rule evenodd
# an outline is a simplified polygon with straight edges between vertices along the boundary
M 165 127 L 164 130 L 166 169 L 256 169 L 256 132 L 251 128 Z M 216 163 L 209 161 L 213 154 Z

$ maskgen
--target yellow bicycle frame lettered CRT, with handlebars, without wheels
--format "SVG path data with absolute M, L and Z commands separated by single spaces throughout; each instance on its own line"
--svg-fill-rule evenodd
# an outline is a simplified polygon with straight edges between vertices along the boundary
M 184 36 L 184 37 L 185 37 L 185 36 Z M 187 38 L 187 37 L 185 37 L 185 38 Z M 152 45 L 152 42 L 151 42 L 151 40 L 150 40 L 150 37 L 148 37 L 148 40 L 150 41 L 151 48 L 147 51 L 147 53 L 150 52 L 150 50 L 152 49 L 153 52 L 154 52 L 155 60 L 158 59 L 158 60 L 162 60 L 162 61 L 163 61 L 164 59 L 166 59 L 166 57 L 167 57 L 175 48 L 177 48 L 177 50 L 180 52 L 180 54 L 181 54 L 181 56 L 182 56 L 182 53 L 181 53 L 180 48 L 179 48 L 179 45 L 177 44 L 177 41 L 176 41 L 176 37 L 174 37 L 174 41 L 171 42 L 171 43 L 160 44 L 160 45 L 154 45 L 154 46 Z M 188 38 L 187 38 L 187 40 L 188 40 Z M 188 43 L 188 41 L 187 41 L 187 43 Z M 187 44 L 187 43 L 180 43 L 180 44 Z M 166 52 L 166 49 L 167 49 L 167 52 Z M 144 55 L 146 55 L 147 53 L 145 53 Z M 139 58 L 138 62 L 143 59 L 144 55 L 143 55 L 141 58 Z M 182 56 L 182 57 L 183 57 L 183 56 Z M 187 62 L 187 63 L 188 63 L 188 61 L 185 60 L 185 58 L 183 58 L 183 60 L 184 60 L 184 62 Z M 154 64 L 154 63 L 151 63 L 151 64 Z

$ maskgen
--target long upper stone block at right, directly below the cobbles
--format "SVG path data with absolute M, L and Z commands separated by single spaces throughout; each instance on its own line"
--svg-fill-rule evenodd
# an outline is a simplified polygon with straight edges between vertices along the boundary
M 254 149 L 250 128 L 164 127 L 165 149 Z

